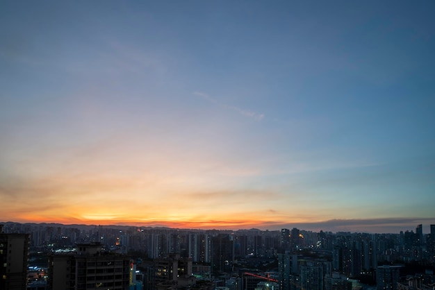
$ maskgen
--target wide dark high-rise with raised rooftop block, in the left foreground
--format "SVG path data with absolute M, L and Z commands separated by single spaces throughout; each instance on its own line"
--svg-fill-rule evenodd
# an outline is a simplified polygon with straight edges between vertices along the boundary
M 51 290 L 127 290 L 133 265 L 124 255 L 105 253 L 101 244 L 78 244 L 74 255 L 49 257 Z

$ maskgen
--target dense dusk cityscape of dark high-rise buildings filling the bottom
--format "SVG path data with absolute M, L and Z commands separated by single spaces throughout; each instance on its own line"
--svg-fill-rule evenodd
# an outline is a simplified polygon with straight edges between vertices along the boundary
M 435 289 L 435 225 L 429 234 L 422 225 L 400 234 L 20 223 L 0 229 L 0 289 L 351 290 L 364 287 L 356 282 L 361 277 L 378 290 Z M 32 275 L 31 252 L 49 257 Z M 420 268 L 404 271 L 409 263 Z

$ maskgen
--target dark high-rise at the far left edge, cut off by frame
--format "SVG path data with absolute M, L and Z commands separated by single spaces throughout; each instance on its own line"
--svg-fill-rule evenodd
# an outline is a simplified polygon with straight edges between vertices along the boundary
M 0 225 L 0 289 L 26 289 L 30 234 L 4 234 Z

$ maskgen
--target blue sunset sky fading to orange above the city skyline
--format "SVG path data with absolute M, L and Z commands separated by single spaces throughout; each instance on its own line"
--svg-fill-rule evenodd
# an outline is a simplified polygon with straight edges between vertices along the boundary
M 0 221 L 435 224 L 434 1 L 0 3 Z

